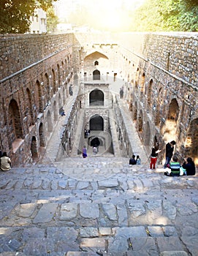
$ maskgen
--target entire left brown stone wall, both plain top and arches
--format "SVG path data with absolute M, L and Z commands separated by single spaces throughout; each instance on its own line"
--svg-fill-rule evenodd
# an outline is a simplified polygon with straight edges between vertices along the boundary
M 12 165 L 41 157 L 51 138 L 73 80 L 72 40 L 69 34 L 1 37 L 0 146 Z

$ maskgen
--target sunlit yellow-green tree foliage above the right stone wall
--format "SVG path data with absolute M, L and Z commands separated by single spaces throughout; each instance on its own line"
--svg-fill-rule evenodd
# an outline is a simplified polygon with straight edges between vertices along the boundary
M 132 17 L 133 31 L 198 31 L 198 1 L 145 0 Z

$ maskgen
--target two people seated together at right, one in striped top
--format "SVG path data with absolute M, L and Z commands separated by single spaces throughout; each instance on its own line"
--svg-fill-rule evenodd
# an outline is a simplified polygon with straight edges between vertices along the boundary
M 172 162 L 167 165 L 167 168 L 167 171 L 164 172 L 164 175 L 166 176 L 194 176 L 196 173 L 196 167 L 191 157 L 185 159 L 183 165 L 180 165 L 178 157 L 174 155 L 172 157 Z

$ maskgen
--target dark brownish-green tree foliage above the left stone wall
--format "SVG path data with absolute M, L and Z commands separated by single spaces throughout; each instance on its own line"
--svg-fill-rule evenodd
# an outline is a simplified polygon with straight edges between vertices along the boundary
M 26 33 L 36 8 L 47 10 L 57 0 L 1 0 L 0 33 Z

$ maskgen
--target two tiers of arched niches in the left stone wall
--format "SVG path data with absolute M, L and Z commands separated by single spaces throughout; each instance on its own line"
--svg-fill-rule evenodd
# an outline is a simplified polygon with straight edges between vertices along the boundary
M 53 124 L 58 120 L 59 108 L 66 104 L 67 85 L 72 79 L 72 72 L 69 72 L 70 62 L 71 56 L 67 56 L 64 61 L 60 62 L 61 64 L 58 63 L 46 72 L 39 74 L 36 82 L 32 80 L 26 86 L 18 86 L 18 91 L 12 96 L 7 110 L 5 109 L 4 125 L 8 124 L 9 151 L 15 153 L 21 141 L 32 129 L 31 127 L 37 123 L 39 124 L 38 131 L 35 129 L 35 135 L 29 145 L 32 156 L 39 154 L 39 147 L 45 146 L 47 133 L 53 132 Z M 28 70 L 28 72 L 31 71 Z M 44 129 L 43 123 L 40 122 L 43 120 L 42 117 L 46 121 L 47 129 Z M 44 130 L 45 132 L 43 132 Z M 1 148 L 8 151 L 2 142 Z

